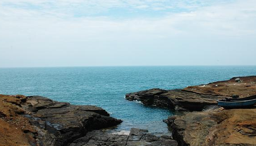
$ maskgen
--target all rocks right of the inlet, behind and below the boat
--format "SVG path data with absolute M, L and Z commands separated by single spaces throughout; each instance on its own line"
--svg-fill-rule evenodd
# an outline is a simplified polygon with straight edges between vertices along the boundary
M 256 146 L 256 107 L 227 110 L 215 101 L 255 94 L 256 76 L 248 76 L 182 90 L 144 90 L 126 94 L 125 98 L 183 111 L 166 120 L 178 146 Z

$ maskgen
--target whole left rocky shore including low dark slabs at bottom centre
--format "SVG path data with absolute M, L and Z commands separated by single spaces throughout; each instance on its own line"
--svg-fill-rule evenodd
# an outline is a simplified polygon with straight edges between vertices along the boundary
M 121 122 L 96 106 L 0 94 L 0 146 L 178 146 L 143 129 L 128 135 L 99 130 Z

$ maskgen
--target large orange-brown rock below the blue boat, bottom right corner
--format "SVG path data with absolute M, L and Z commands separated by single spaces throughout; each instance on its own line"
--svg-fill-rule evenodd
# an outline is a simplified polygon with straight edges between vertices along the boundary
M 179 146 L 256 146 L 256 108 L 215 108 L 169 117 Z

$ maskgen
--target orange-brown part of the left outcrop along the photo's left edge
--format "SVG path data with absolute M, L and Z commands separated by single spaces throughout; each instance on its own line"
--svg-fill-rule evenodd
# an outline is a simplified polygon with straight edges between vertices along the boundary
M 26 112 L 20 107 L 25 100 L 23 95 L 0 94 L 0 146 L 33 146 L 37 143 L 34 136 L 37 129 L 27 117 L 21 116 Z

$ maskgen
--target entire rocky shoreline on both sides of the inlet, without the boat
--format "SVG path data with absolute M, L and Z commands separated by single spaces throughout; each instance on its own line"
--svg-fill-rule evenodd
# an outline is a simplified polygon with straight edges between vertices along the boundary
M 217 106 L 216 99 L 256 94 L 256 76 L 239 77 L 239 82 L 236 78 L 126 94 L 130 101 L 182 112 L 165 120 L 174 140 L 134 128 L 128 135 L 106 133 L 100 129 L 122 120 L 100 107 L 0 94 L 0 146 L 256 146 L 256 107 L 227 110 Z

